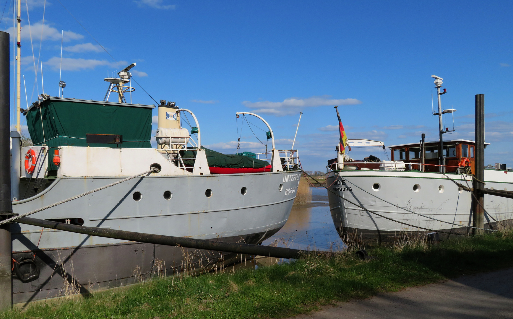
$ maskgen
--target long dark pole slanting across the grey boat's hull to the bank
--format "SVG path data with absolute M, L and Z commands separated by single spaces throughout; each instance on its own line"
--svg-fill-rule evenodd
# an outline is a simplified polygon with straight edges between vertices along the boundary
M 235 252 L 248 255 L 259 255 L 277 258 L 294 258 L 297 259 L 301 255 L 307 254 L 308 251 L 290 249 L 283 247 L 271 247 L 262 245 L 251 245 L 241 243 L 229 243 L 214 240 L 200 240 L 187 237 L 175 237 L 155 234 L 145 234 L 133 231 L 105 229 L 98 227 L 78 226 L 72 224 L 64 224 L 51 222 L 47 220 L 39 220 L 37 218 L 23 217 L 16 220 L 16 223 L 33 225 L 38 227 L 53 228 L 79 234 L 115 238 L 119 240 L 149 243 L 166 246 L 181 246 L 185 248 L 207 249 L 224 252 Z

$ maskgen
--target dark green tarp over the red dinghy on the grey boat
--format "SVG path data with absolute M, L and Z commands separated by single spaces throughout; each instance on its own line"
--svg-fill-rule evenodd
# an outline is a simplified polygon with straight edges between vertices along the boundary
M 269 165 L 269 162 L 257 160 L 257 158 L 252 158 L 250 156 L 223 154 L 204 148 L 203 146 L 201 148 L 205 150 L 209 167 L 263 168 Z M 196 156 L 196 151 L 180 151 L 180 156 L 183 158 L 194 158 Z M 184 164 L 187 166 L 193 166 L 194 160 L 184 160 Z

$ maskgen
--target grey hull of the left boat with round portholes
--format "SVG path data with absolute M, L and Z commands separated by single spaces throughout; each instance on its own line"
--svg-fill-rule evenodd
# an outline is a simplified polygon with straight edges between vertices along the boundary
M 297 189 L 299 181 L 288 175 L 299 174 L 145 176 L 32 216 L 83 220 L 84 226 L 90 227 L 259 244 L 286 223 L 295 198 L 295 191 L 287 190 Z M 13 211 L 31 211 L 121 179 L 63 177 L 43 195 L 13 205 Z M 166 191 L 171 192 L 169 200 Z M 136 192 L 140 196 L 134 196 Z M 13 277 L 14 303 L 127 285 L 156 272 L 180 272 L 183 265 L 195 265 L 198 270 L 200 265 L 226 264 L 241 258 L 23 224 L 12 225 L 12 238 L 14 258 L 35 252 L 41 268 L 39 278 L 29 283 Z

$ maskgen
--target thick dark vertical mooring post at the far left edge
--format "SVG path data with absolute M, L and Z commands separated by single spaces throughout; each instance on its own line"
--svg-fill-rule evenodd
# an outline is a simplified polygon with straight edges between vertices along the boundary
M 9 33 L 0 32 L 0 220 L 12 215 Z M 0 226 L 0 311 L 12 307 L 11 225 Z

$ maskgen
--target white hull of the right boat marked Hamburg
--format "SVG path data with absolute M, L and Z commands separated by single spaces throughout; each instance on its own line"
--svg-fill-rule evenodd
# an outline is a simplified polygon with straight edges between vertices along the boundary
M 471 176 L 460 174 L 411 171 L 329 172 L 327 185 L 331 186 L 328 198 L 333 223 L 341 236 L 356 233 L 363 241 L 393 241 L 394 237 L 404 233 L 429 231 L 466 233 L 469 228 L 465 226 L 472 226 L 472 195 L 451 179 L 465 186 L 472 185 Z M 488 188 L 513 188 L 511 172 L 504 174 L 503 171 L 487 170 L 485 180 Z M 390 219 L 368 212 L 348 201 Z M 497 221 L 513 218 L 513 200 L 508 198 L 485 195 L 484 208 L 487 211 L 487 226 L 495 222 L 494 218 Z M 443 222 L 413 214 L 405 209 Z

